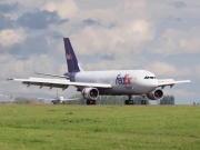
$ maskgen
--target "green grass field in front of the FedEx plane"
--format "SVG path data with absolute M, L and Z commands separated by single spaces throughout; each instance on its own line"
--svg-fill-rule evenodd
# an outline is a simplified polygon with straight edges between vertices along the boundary
M 0 149 L 200 149 L 200 107 L 0 106 Z

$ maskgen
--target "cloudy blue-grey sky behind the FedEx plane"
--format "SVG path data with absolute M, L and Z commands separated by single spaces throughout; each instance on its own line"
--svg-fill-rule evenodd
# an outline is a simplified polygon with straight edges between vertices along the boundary
M 190 79 L 164 88 L 177 104 L 200 103 L 199 0 L 0 0 L 0 93 L 56 96 L 7 78 L 63 74 L 63 38 L 71 40 L 81 68 L 146 69 L 158 79 Z M 70 87 L 60 96 L 77 94 Z

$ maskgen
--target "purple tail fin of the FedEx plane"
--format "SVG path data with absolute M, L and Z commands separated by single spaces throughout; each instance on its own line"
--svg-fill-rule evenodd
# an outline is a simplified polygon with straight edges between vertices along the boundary
M 71 47 L 69 38 L 63 38 L 66 48 L 66 59 L 68 64 L 68 72 L 80 72 L 77 57 L 74 54 L 73 48 Z

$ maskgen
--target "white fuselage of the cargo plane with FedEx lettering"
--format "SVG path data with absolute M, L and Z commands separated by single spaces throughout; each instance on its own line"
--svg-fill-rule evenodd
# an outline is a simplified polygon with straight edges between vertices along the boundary
M 74 81 L 112 86 L 111 89 L 99 89 L 100 94 L 144 94 L 158 88 L 156 76 L 146 70 L 78 72 Z

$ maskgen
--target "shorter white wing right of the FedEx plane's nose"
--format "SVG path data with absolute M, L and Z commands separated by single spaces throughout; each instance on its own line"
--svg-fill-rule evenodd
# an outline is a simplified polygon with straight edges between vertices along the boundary
M 163 80 L 158 80 L 158 87 L 164 88 L 166 86 L 173 87 L 176 83 L 188 83 L 191 82 L 190 80 L 180 80 L 180 81 L 174 81 L 173 79 L 163 79 Z

